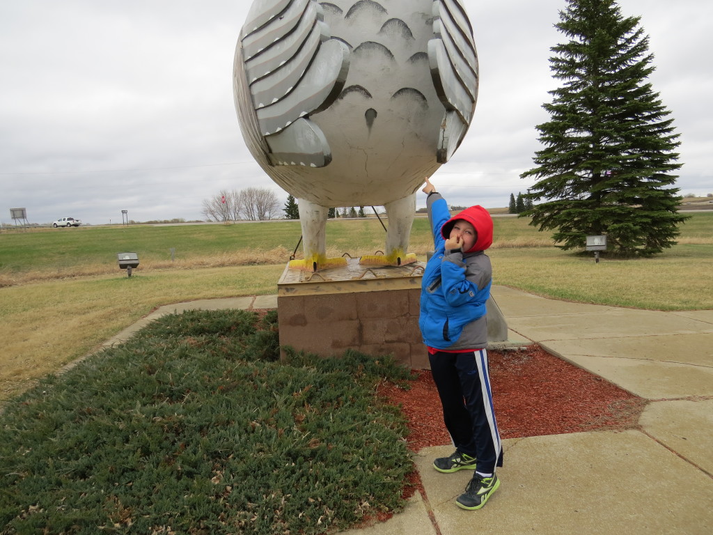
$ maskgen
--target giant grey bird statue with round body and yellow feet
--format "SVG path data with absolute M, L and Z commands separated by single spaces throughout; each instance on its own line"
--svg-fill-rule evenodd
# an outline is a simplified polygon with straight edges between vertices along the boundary
M 478 92 L 473 31 L 460 0 L 255 0 L 235 51 L 243 137 L 299 203 L 304 260 L 326 256 L 329 208 L 383 205 L 400 265 L 416 191 L 463 140 Z

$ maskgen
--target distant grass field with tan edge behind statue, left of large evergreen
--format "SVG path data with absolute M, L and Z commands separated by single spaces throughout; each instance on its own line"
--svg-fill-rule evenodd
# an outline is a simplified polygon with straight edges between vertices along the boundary
M 527 220 L 495 218 L 496 247 L 550 245 Z M 384 222 L 388 224 L 388 220 Z M 0 287 L 33 280 L 101 275 L 118 271 L 116 253 L 139 255 L 140 270 L 284 264 L 301 235 L 298 221 L 234 225 L 130 225 L 28 230 L 0 235 Z M 376 218 L 330 220 L 329 255 L 374 254 L 384 249 L 384 228 Z M 175 248 L 175 260 L 171 260 Z M 432 248 L 426 218 L 414 221 L 411 252 Z M 302 245 L 297 248 L 302 253 Z

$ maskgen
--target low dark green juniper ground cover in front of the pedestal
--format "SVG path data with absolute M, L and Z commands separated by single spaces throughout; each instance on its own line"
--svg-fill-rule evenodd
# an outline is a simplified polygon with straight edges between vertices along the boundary
M 157 320 L 0 416 L 4 534 L 317 534 L 398 511 L 409 372 L 356 352 L 276 362 L 277 315 Z

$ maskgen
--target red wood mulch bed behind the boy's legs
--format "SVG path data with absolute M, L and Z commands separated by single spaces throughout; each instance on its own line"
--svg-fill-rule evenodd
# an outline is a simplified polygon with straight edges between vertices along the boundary
M 646 405 L 605 379 L 550 355 L 539 346 L 488 351 L 498 428 L 503 439 L 637 427 Z M 429 370 L 415 372 L 411 389 L 384 383 L 379 393 L 409 419 L 406 437 L 417 452 L 451 444 Z

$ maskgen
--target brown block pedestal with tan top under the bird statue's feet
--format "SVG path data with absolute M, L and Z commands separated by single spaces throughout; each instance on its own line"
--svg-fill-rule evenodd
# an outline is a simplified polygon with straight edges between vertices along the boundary
M 285 268 L 277 282 L 279 344 L 324 357 L 354 349 L 392 354 L 415 369 L 429 367 L 419 331 L 424 263 L 359 265 L 323 272 Z

